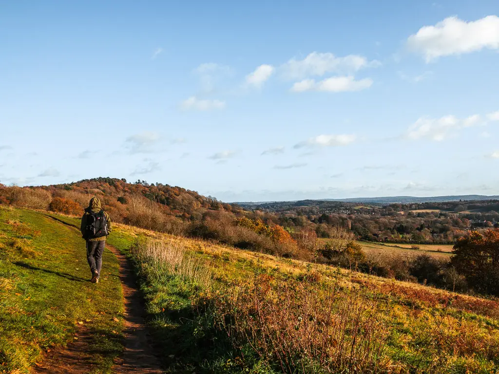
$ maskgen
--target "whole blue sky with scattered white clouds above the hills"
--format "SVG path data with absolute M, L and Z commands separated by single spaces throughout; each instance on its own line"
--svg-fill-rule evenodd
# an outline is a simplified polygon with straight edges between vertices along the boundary
M 0 182 L 499 194 L 498 1 L 0 5 Z

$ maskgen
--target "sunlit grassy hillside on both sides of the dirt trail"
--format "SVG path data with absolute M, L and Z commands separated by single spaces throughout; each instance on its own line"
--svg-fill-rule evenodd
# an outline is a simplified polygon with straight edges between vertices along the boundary
M 111 276 L 88 300 L 75 231 L 43 212 L 0 212 L 2 370 L 22 372 L 80 321 L 105 373 L 121 350 L 116 259 L 106 254 Z M 108 242 L 140 275 L 169 373 L 498 373 L 497 299 L 123 224 Z

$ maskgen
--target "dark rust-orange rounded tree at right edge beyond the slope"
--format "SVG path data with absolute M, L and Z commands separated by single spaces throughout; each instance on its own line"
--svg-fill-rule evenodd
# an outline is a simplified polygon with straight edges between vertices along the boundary
M 499 296 L 499 229 L 472 231 L 458 240 L 451 264 L 475 290 Z

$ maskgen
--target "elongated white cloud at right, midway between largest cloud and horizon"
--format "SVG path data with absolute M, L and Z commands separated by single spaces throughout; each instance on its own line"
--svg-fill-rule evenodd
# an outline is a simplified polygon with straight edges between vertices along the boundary
M 462 120 L 452 115 L 441 118 L 421 117 L 409 127 L 406 137 L 412 140 L 426 138 L 441 142 L 462 128 L 477 126 L 480 123 L 478 114 Z

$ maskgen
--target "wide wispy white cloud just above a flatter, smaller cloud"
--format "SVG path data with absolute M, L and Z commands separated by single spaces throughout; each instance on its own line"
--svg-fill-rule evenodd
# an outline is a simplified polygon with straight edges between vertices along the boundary
M 365 57 L 350 54 L 336 57 L 332 53 L 312 52 L 302 60 L 291 58 L 280 69 L 287 79 L 302 79 L 310 76 L 322 76 L 326 73 L 350 73 L 366 67 L 377 67 L 377 60 L 368 61 Z

